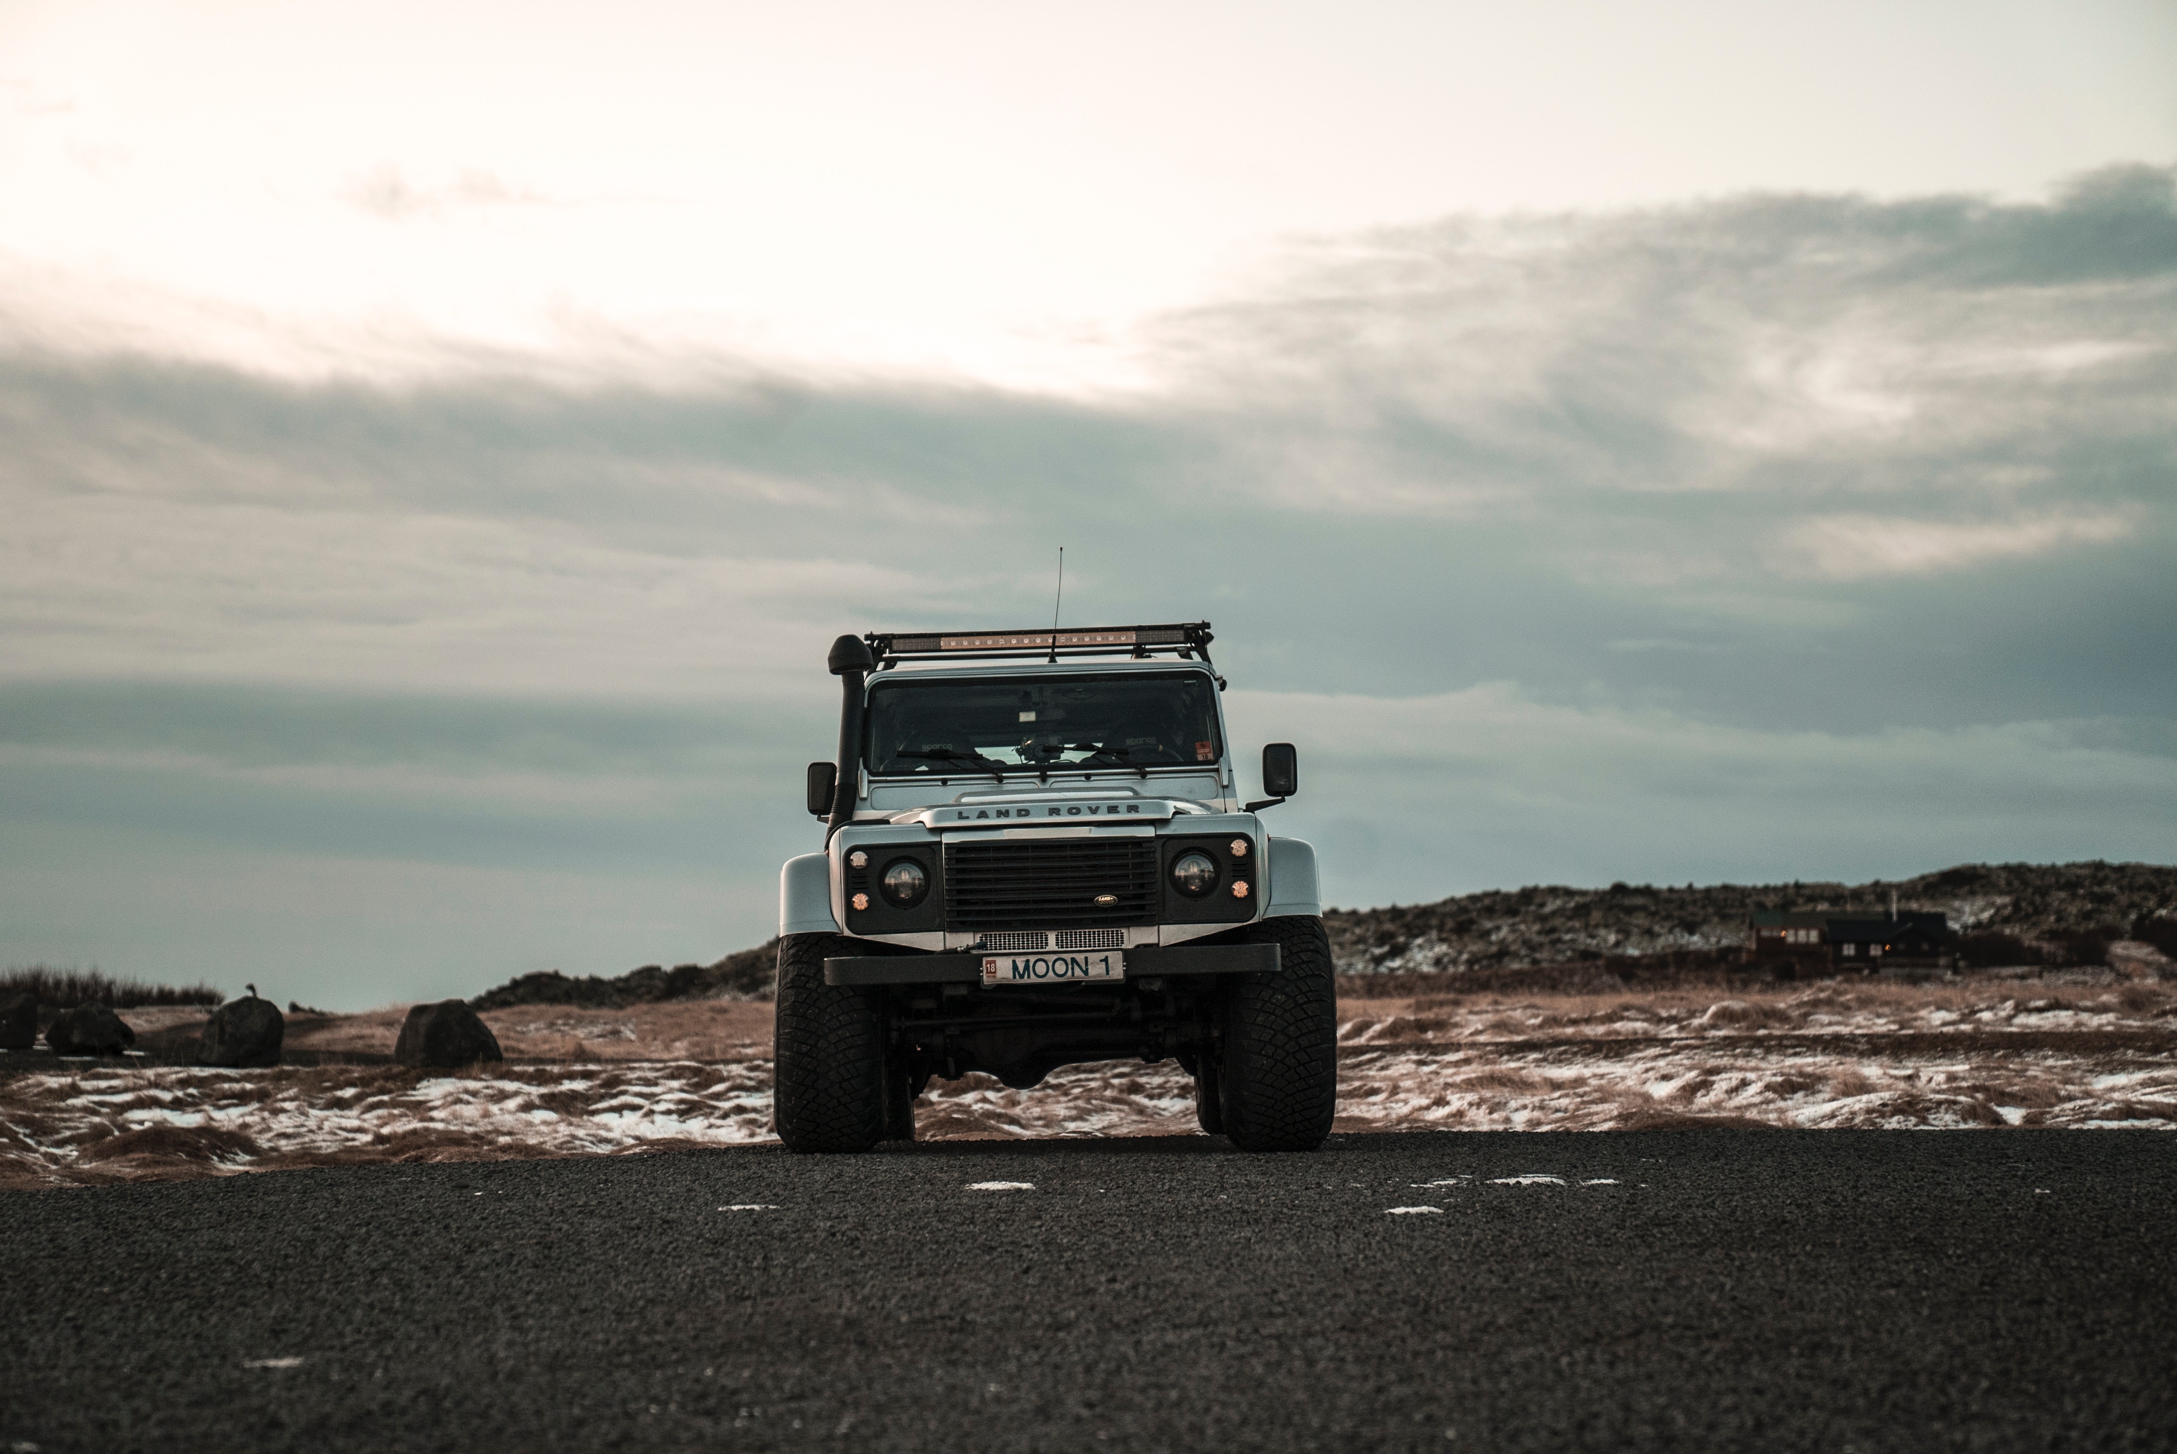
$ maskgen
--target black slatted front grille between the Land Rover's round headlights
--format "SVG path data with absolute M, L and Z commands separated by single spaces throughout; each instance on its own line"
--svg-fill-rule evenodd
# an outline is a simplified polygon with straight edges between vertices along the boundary
M 945 845 L 947 929 L 1093 929 L 1154 921 L 1154 838 Z

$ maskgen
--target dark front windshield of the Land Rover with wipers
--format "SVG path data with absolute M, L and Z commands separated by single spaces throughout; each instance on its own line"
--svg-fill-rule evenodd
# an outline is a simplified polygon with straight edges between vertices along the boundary
M 1217 694 L 1195 670 L 1110 677 L 893 677 L 869 692 L 873 775 L 1147 771 L 1217 762 Z

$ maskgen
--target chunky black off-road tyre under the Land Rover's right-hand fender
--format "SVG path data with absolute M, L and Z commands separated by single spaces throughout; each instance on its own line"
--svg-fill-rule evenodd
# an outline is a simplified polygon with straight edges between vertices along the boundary
M 1276 975 L 1223 986 L 1223 1132 L 1243 1151 L 1313 1151 L 1339 1104 L 1337 984 L 1321 919 L 1263 919 L 1239 936 L 1278 945 Z

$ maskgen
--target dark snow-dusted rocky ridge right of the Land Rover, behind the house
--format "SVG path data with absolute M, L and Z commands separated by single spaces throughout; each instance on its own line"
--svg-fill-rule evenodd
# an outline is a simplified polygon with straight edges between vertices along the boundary
M 1715 884 L 1709 888 L 1513 888 L 1437 903 L 1330 910 L 1339 973 L 1465 973 L 1672 958 L 1724 964 L 1757 910 L 1942 912 L 1968 962 L 2099 964 L 2112 942 L 2177 951 L 2177 866 L 1959 864 L 1872 884 Z

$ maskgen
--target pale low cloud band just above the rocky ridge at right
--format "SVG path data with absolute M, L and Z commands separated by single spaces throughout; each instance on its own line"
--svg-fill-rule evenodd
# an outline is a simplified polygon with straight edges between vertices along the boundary
M 1776 882 L 1957 860 L 2177 851 L 2168 740 L 2096 723 L 1755 729 L 1657 707 L 1228 694 L 1234 740 L 1302 744 L 1276 831 L 1308 838 L 1337 903 L 1450 886 Z

